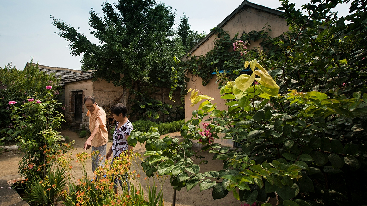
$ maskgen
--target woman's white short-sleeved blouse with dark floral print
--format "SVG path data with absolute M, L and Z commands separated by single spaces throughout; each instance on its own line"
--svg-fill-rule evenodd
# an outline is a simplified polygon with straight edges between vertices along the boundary
M 119 157 L 120 154 L 127 150 L 128 144 L 126 136 L 130 135 L 134 130 L 131 122 L 127 119 L 125 124 L 119 127 L 119 122 L 115 126 L 115 132 L 112 135 L 112 154 L 113 158 Z

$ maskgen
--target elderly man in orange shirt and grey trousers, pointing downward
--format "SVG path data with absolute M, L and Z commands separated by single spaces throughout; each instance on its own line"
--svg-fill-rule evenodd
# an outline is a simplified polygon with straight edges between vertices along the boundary
M 98 155 L 92 155 L 92 171 L 102 166 L 106 158 L 108 132 L 106 128 L 106 113 L 101 107 L 95 103 L 93 96 L 86 96 L 84 104 L 88 109 L 89 129 L 91 136 L 84 144 L 84 150 L 88 150 L 92 146 L 93 151 L 99 151 Z

